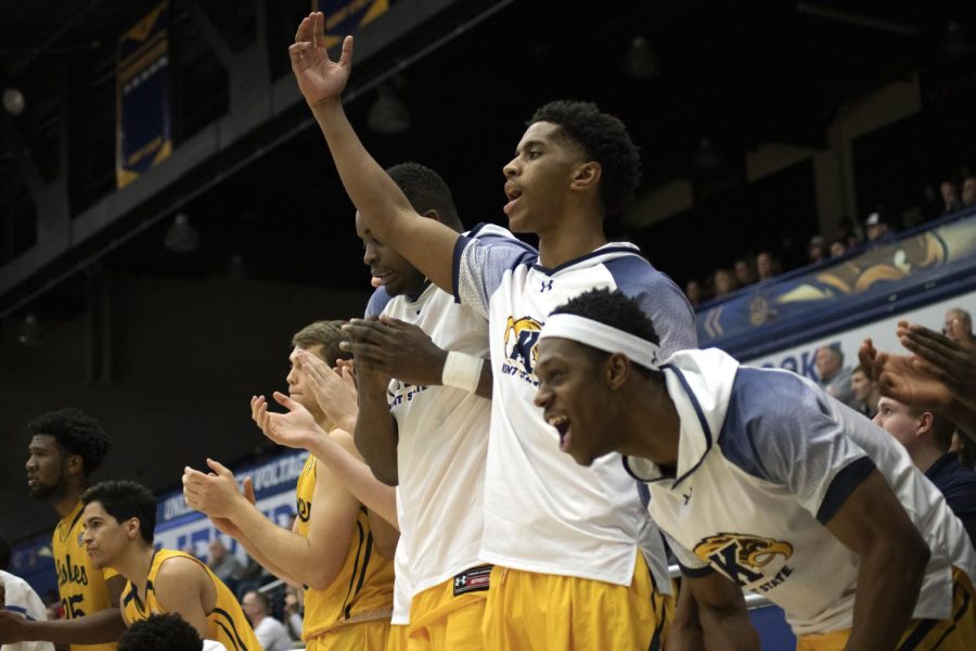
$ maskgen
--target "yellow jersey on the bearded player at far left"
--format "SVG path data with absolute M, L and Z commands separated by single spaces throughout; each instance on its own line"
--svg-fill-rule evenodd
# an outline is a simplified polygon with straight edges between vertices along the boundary
M 81 544 L 85 525 L 81 523 L 81 502 L 54 527 L 51 551 L 57 572 L 57 591 L 68 620 L 84 617 L 117 605 L 112 603 L 105 579 L 116 576 L 115 570 L 95 570 Z M 112 644 L 72 644 L 72 651 L 114 651 Z

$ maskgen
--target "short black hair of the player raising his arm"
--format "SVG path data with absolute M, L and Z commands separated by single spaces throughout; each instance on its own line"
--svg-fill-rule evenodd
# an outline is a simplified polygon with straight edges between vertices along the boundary
M 600 199 L 607 215 L 616 215 L 633 199 L 641 180 L 641 156 L 627 127 L 592 102 L 557 100 L 536 111 L 528 122 L 558 125 L 563 132 L 600 164 Z

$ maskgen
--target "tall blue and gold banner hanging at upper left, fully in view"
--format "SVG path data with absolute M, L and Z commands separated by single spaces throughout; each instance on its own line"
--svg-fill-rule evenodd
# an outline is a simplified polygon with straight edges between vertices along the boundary
M 119 188 L 172 151 L 168 14 L 164 2 L 118 39 L 115 177 Z

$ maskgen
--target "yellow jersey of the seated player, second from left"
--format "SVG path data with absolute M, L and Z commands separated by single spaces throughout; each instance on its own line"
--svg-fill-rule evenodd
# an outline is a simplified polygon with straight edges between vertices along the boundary
M 156 573 L 159 566 L 169 559 L 183 557 L 191 559 L 207 572 L 207 576 L 214 582 L 214 588 L 217 590 L 217 602 L 214 610 L 207 615 L 207 622 L 210 624 L 210 631 L 207 639 L 216 640 L 227 647 L 228 651 L 261 651 L 261 644 L 258 642 L 241 604 L 234 598 L 223 582 L 217 578 L 210 569 L 203 561 L 193 558 L 189 553 L 175 551 L 171 549 L 160 549 L 153 554 L 153 562 L 150 564 L 150 573 L 146 580 L 145 603 L 140 601 L 132 582 L 126 583 L 126 589 L 123 597 L 123 613 L 126 621 L 131 625 L 133 622 L 147 620 L 150 615 L 158 615 L 166 612 L 159 602 L 156 601 L 156 592 L 153 584 L 156 582 Z

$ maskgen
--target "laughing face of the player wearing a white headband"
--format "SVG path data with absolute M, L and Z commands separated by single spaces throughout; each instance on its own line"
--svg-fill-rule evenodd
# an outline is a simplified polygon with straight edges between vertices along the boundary
M 536 406 L 555 427 L 560 449 L 580 465 L 619 447 L 620 430 L 607 422 L 607 406 L 616 396 L 606 386 L 606 360 L 582 344 L 561 337 L 538 344 Z

